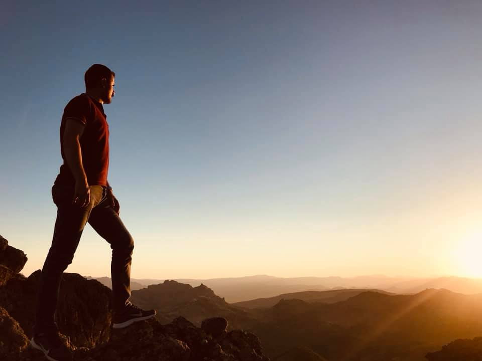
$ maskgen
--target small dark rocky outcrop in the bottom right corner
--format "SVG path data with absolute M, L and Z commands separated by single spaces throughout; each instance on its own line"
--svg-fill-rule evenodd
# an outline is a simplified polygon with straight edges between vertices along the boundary
M 425 355 L 429 361 L 480 361 L 482 360 L 482 337 L 456 339 L 441 350 Z

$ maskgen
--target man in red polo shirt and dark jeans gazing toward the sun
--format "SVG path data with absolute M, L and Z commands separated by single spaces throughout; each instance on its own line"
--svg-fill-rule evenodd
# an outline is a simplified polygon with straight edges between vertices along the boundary
M 85 72 L 85 93 L 65 107 L 60 125 L 63 164 L 52 187 L 57 206 L 52 246 L 42 268 L 33 347 L 49 360 L 70 360 L 55 322 L 62 273 L 72 263 L 85 224 L 103 237 L 112 249 L 111 277 L 113 328 L 150 318 L 155 310 L 142 310 L 129 301 L 131 256 L 134 241 L 119 218 L 119 204 L 107 182 L 109 128 L 103 104 L 114 96 L 115 73 L 94 64 Z

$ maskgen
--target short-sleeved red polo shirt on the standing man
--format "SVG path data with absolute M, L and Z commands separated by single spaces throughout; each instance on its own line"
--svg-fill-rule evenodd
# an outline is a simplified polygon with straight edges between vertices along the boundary
M 80 137 L 82 165 L 89 186 L 107 186 L 109 168 L 109 125 L 102 104 L 85 93 L 73 98 L 65 107 L 60 123 L 60 152 L 64 163 L 60 167 L 55 184 L 74 186 L 75 179 L 64 155 L 63 135 L 67 119 L 74 119 L 85 126 Z M 71 120 L 70 120 L 71 121 Z

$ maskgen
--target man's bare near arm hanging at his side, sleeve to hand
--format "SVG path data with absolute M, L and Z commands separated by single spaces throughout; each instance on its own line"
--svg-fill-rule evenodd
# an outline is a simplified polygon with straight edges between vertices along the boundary
M 65 119 L 65 130 L 62 137 L 65 160 L 75 179 L 73 203 L 80 207 L 86 207 L 90 203 L 90 190 L 82 165 L 82 153 L 79 141 L 84 132 L 84 128 L 85 125 L 78 120 L 67 118 Z

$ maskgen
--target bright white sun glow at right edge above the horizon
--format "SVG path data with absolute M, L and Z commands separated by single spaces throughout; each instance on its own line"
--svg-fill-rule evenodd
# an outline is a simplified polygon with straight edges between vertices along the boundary
M 463 238 L 456 246 L 454 257 L 461 276 L 482 277 L 482 232 Z

